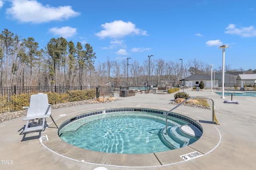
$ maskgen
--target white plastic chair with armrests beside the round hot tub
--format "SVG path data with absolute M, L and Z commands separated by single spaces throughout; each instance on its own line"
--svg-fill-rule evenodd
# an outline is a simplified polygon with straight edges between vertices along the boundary
M 27 124 L 23 133 L 44 130 L 47 125 L 46 118 L 51 117 L 51 105 L 48 103 L 47 94 L 32 94 L 29 107 L 23 108 L 27 108 L 27 117 L 23 119 Z M 38 119 L 38 122 L 35 119 Z

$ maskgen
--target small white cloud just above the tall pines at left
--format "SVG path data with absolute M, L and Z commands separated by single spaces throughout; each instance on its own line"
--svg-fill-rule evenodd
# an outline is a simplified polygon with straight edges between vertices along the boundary
M 74 35 L 77 34 L 76 28 L 72 28 L 72 27 L 68 27 L 68 26 L 60 27 L 60 28 L 54 27 L 54 28 L 49 29 L 49 31 L 51 33 L 53 33 L 54 35 L 58 35 L 63 38 L 73 37 Z

